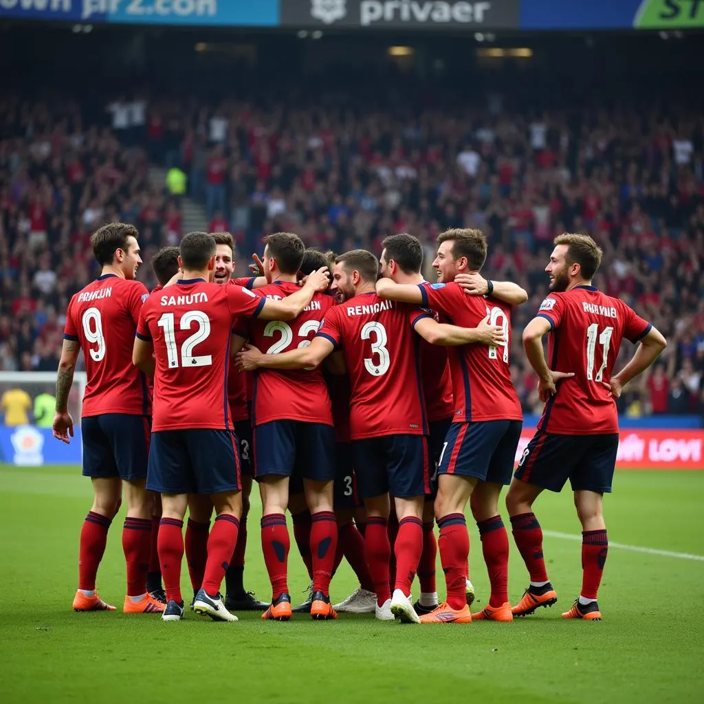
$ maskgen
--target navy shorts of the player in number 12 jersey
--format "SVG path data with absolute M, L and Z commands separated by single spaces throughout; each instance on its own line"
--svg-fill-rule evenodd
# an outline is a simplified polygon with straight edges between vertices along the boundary
M 210 428 L 152 433 L 146 488 L 159 494 L 239 491 L 237 435 Z

